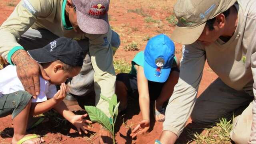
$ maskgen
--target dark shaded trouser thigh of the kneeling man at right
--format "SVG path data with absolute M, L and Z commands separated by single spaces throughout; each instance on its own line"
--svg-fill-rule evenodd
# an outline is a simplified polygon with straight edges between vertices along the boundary
M 233 113 L 241 114 L 252 100 L 247 92 L 234 90 L 217 78 L 197 98 L 191 118 L 197 124 L 212 124 L 220 118 L 230 120 Z

